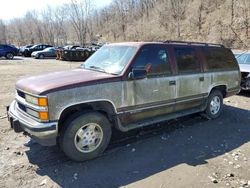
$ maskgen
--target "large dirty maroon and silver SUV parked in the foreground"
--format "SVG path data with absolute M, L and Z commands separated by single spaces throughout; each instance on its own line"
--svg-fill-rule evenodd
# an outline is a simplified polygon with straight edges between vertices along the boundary
M 214 119 L 223 98 L 239 90 L 239 65 L 222 45 L 115 43 L 78 69 L 19 80 L 7 113 L 15 132 L 84 161 L 103 153 L 112 128 L 129 131 L 198 112 Z

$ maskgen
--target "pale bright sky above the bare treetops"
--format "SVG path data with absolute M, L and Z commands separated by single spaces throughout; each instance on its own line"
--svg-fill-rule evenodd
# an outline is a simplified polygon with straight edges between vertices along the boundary
M 46 6 L 56 7 L 71 0 L 0 0 L 0 19 L 9 20 L 25 15 L 28 10 L 41 10 Z M 112 0 L 92 0 L 97 7 L 109 4 Z

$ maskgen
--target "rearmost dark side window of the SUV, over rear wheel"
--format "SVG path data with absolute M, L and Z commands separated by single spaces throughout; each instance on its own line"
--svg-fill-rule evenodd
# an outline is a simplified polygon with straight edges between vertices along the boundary
M 206 48 L 203 49 L 207 70 L 222 70 L 236 68 L 234 56 L 226 48 Z

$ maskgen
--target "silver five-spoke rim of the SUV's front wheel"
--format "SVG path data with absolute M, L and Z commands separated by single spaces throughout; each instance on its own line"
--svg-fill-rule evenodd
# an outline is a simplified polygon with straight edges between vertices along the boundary
M 103 139 L 100 125 L 88 123 L 83 125 L 75 135 L 75 146 L 83 153 L 89 153 L 99 147 Z

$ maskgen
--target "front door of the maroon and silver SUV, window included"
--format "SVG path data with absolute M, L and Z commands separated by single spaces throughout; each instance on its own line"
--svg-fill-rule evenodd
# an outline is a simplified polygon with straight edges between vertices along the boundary
M 132 63 L 133 69 L 146 69 L 147 76 L 127 81 L 132 105 L 127 109 L 126 120 L 132 123 L 171 113 L 176 85 L 172 83 L 175 78 L 166 45 L 142 47 Z

